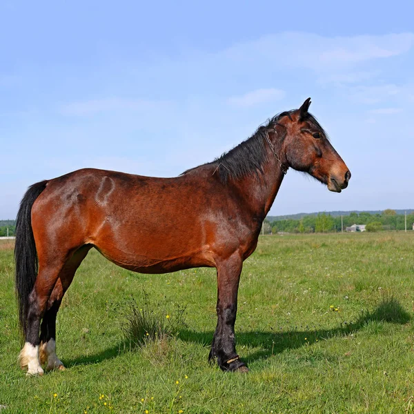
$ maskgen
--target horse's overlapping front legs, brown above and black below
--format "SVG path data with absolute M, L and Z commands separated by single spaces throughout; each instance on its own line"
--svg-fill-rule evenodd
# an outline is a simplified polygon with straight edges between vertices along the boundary
M 242 264 L 242 257 L 238 254 L 217 262 L 217 328 L 208 359 L 217 358 L 224 371 L 248 371 L 235 347 L 237 290 Z

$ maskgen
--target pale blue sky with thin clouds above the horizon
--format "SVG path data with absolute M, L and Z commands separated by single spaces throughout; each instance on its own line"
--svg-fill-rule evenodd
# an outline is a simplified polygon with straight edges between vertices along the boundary
M 352 178 L 289 170 L 270 215 L 414 208 L 414 2 L 0 3 L 0 219 L 84 167 L 173 177 L 299 108 Z

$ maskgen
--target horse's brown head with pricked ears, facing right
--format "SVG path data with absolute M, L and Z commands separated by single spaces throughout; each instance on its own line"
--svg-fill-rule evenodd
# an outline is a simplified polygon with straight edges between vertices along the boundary
M 351 172 L 308 112 L 310 104 L 308 98 L 298 110 L 281 114 L 274 124 L 275 131 L 284 135 L 281 158 L 293 169 L 308 172 L 329 190 L 340 193 L 348 186 Z

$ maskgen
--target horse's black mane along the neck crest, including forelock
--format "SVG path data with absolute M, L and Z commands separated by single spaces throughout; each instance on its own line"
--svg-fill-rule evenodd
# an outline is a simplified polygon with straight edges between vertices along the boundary
M 216 166 L 214 173 L 219 174 L 221 181 L 224 183 L 230 179 L 241 179 L 247 175 L 263 174 L 263 167 L 268 162 L 267 146 L 269 144 L 266 141 L 267 131 L 274 129 L 275 126 L 279 124 L 279 120 L 282 117 L 289 117 L 292 119 L 291 114 L 294 111 L 295 110 L 281 112 L 280 114 L 275 115 L 275 117 L 268 119 L 266 124 L 259 126 L 256 132 L 250 138 L 246 139 L 246 141 L 243 141 L 228 152 L 224 152 L 221 157 L 204 165 Z M 311 122 L 311 124 L 319 128 L 322 135 L 328 138 L 324 129 L 319 125 L 317 119 L 313 117 L 313 115 L 308 114 L 306 121 Z M 284 134 L 281 134 L 281 143 L 284 136 Z M 183 172 L 183 175 L 195 168 L 186 170 Z

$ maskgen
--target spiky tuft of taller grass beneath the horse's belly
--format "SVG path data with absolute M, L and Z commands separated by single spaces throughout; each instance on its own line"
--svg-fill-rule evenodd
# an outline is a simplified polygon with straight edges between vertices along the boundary
M 165 342 L 176 337 L 186 327 L 186 307 L 175 304 L 172 311 L 160 306 L 144 291 L 137 301 L 129 299 L 126 304 L 125 321 L 121 324 L 124 341 L 132 348 L 141 347 L 148 342 Z

